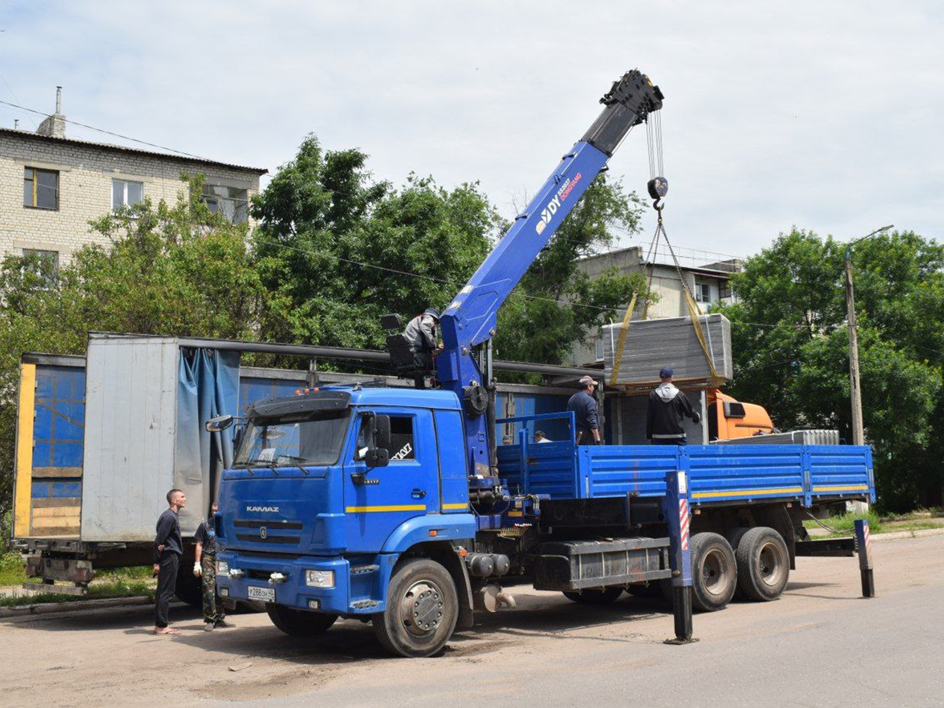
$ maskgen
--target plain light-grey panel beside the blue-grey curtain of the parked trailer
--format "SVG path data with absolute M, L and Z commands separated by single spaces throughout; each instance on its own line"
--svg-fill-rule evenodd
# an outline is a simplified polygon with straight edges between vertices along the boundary
M 174 339 L 90 340 L 82 540 L 154 538 L 174 485 L 177 356 Z

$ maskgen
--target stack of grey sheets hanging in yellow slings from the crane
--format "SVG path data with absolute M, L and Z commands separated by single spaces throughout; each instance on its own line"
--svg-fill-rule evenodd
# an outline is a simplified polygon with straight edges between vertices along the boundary
M 659 370 L 670 366 L 676 383 L 685 388 L 717 386 L 733 375 L 731 323 L 721 314 L 699 317 L 705 345 L 715 365 L 716 376 L 705 358 L 691 317 L 668 317 L 632 322 L 627 330 L 619 359 L 616 385 L 643 388 L 658 383 Z M 603 328 L 603 360 L 606 381 L 613 380 L 615 349 L 619 346 L 621 325 Z

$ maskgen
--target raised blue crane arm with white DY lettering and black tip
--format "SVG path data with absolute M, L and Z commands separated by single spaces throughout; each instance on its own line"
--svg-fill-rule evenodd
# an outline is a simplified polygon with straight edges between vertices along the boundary
M 437 379 L 464 400 L 465 431 L 474 475 L 489 474 L 489 430 L 483 415 L 487 396 L 476 346 L 495 335 L 498 308 L 566 215 L 580 201 L 632 126 L 662 108 L 663 95 L 649 77 L 632 70 L 601 99 L 605 108 L 564 156 L 525 211 L 482 262 L 443 313 L 445 348 L 437 357 Z

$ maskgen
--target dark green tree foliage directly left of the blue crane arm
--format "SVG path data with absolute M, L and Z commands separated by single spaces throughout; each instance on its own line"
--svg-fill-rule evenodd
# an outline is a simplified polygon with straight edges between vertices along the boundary
M 254 200 L 263 339 L 383 346 L 380 315 L 445 307 L 484 258 L 498 220 L 477 184 L 411 175 L 395 189 L 366 160 L 309 136 Z

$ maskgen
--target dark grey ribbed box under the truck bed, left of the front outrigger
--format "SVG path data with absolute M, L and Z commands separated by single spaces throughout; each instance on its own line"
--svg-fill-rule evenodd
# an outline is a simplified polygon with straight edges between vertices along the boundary
M 583 590 L 671 578 L 667 538 L 551 541 L 533 557 L 534 587 Z

